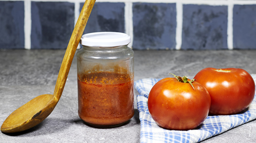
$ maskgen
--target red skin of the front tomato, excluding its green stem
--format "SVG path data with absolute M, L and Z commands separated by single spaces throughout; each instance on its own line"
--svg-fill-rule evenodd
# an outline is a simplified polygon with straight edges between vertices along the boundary
M 206 119 L 211 99 L 199 83 L 181 83 L 176 78 L 157 82 L 148 96 L 148 110 L 156 123 L 165 129 L 190 130 Z

